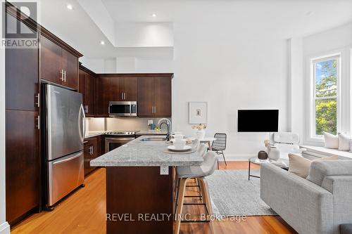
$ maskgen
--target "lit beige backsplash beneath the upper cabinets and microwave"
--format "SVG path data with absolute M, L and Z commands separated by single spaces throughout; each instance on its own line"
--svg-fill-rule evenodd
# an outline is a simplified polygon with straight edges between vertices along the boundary
M 153 119 L 154 124 L 158 124 L 161 118 L 90 118 L 87 117 L 87 131 L 141 131 L 148 130 L 148 120 Z M 168 118 L 170 119 L 170 118 Z M 164 130 L 164 129 L 163 129 Z M 166 130 L 166 129 L 165 129 Z

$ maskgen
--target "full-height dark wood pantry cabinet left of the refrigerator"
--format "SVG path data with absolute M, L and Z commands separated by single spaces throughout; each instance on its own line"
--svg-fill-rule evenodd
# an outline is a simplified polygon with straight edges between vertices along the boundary
M 20 12 L 9 5 L 7 18 L 37 32 L 32 21 L 21 21 Z M 6 221 L 11 226 L 40 210 L 38 66 L 37 48 L 6 48 Z

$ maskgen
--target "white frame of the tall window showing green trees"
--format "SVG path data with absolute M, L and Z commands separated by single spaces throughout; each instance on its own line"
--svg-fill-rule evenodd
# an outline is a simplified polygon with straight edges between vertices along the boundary
M 326 60 L 332 60 L 332 59 L 337 59 L 338 64 L 337 64 L 337 96 L 331 96 L 331 97 L 324 97 L 324 98 L 316 98 L 316 89 L 315 89 L 315 84 L 316 84 L 316 70 L 315 70 L 315 64 L 326 61 Z M 340 131 L 341 127 L 341 89 L 340 89 L 340 84 L 341 84 L 341 53 L 334 53 L 334 54 L 327 54 L 325 56 L 319 56 L 315 58 L 310 58 L 310 74 L 309 74 L 309 80 L 310 80 L 310 86 L 309 86 L 309 96 L 310 96 L 310 104 L 309 104 L 309 113 L 310 113 L 310 118 L 309 118 L 309 138 L 310 141 L 317 141 L 317 142 L 322 142 L 323 138 L 322 135 L 316 135 L 316 123 L 315 123 L 315 100 L 321 100 L 321 99 L 332 99 L 336 98 L 337 100 L 337 132 Z

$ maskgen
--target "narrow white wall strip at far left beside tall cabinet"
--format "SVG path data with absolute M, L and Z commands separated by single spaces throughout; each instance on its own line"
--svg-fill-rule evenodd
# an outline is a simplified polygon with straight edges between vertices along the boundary
M 2 10 L 0 13 L 2 19 Z M 0 23 L 2 32 L 2 23 Z M 0 46 L 0 234 L 10 233 L 6 222 L 5 186 L 5 50 Z

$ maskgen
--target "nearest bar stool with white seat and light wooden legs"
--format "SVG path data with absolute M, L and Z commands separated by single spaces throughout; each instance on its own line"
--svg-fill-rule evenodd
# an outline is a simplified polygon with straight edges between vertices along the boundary
M 206 211 L 208 212 L 209 215 L 213 214 L 213 209 L 211 207 L 210 195 L 208 190 L 208 183 L 206 182 L 206 180 L 204 180 L 204 178 L 214 173 L 218 160 L 216 158 L 215 152 L 213 151 L 206 152 L 206 155 L 204 155 L 203 158 L 204 158 L 204 161 L 200 166 L 176 167 L 178 188 L 177 188 L 177 202 L 176 202 L 176 215 L 175 215 L 175 219 L 176 219 L 175 234 L 180 233 L 180 225 L 181 225 L 180 216 L 182 215 L 184 192 L 186 190 L 187 179 L 196 178 L 196 180 L 199 181 L 201 195 L 204 203 L 206 204 Z M 211 220 L 210 220 L 210 230 L 211 230 L 211 233 L 213 233 L 213 224 L 211 223 Z

